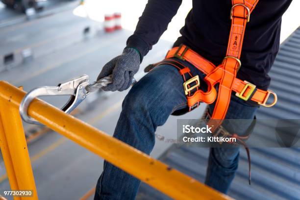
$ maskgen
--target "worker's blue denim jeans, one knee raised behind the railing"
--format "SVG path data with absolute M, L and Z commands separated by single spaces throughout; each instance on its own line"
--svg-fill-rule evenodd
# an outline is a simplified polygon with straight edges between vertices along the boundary
M 190 67 L 193 75 L 204 78 L 194 66 L 185 65 Z M 205 84 L 201 85 L 204 88 Z M 214 105 L 210 106 L 212 110 Z M 158 66 L 130 89 L 113 136 L 150 154 L 157 126 L 163 125 L 175 110 L 186 107 L 183 78 L 178 70 L 170 65 Z M 226 119 L 253 119 L 256 109 L 232 95 Z M 205 184 L 226 193 L 237 170 L 238 158 L 239 148 L 212 148 Z M 140 180 L 104 161 L 95 200 L 134 200 L 139 185 Z

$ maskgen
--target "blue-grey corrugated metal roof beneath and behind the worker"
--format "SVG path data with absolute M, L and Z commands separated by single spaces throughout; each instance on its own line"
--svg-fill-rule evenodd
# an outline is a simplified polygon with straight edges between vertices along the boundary
M 278 96 L 277 104 L 261 107 L 258 119 L 300 119 L 300 28 L 281 46 L 269 74 L 270 89 Z M 160 156 L 173 168 L 203 182 L 209 149 L 175 145 Z M 300 200 L 300 149 L 255 148 L 251 153 L 251 185 L 248 185 L 248 161 L 241 149 L 239 168 L 228 195 L 238 200 Z M 142 183 L 138 198 L 170 198 Z

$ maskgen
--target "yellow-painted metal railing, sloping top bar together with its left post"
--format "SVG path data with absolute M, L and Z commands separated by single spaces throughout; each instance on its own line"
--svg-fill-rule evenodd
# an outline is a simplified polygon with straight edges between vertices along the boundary
M 37 191 L 25 141 L 19 106 L 25 92 L 0 81 L 0 145 L 12 190 Z M 106 133 L 35 99 L 28 114 L 52 130 L 96 153 L 125 172 L 178 200 L 229 200 L 228 196 L 136 150 Z M 26 198 L 15 197 L 15 200 Z

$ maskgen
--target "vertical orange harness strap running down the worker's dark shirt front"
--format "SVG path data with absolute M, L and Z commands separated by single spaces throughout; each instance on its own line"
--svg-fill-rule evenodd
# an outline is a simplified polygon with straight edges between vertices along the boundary
M 246 25 L 250 20 L 250 13 L 258 0 L 232 0 L 230 11 L 231 28 L 226 57 L 218 66 L 222 69 L 218 98 L 211 119 L 225 118 L 232 92 L 232 86 L 238 69 L 241 67 L 241 56 Z M 207 75 L 207 76 L 210 76 Z

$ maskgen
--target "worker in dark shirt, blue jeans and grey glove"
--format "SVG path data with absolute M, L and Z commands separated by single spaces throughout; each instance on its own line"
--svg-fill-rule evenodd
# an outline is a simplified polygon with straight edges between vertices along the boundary
M 229 16 L 230 12 L 234 12 L 233 4 L 246 2 L 242 6 L 245 7 L 245 12 L 248 10 L 245 20 L 249 21 L 246 18 L 250 18 L 252 9 L 246 9 L 246 6 L 250 3 L 255 6 L 256 1 L 258 0 L 193 0 L 193 8 L 186 17 L 185 25 L 180 30 L 181 36 L 175 41 L 174 47 L 184 44 L 214 65 L 219 65 L 227 55 L 232 23 Z M 254 88 L 255 85 L 257 90 L 267 91 L 270 84 L 268 72 L 279 49 L 281 17 L 290 3 L 291 0 L 261 0 L 251 13 L 242 41 L 242 67 L 236 71 L 236 77 L 242 83 L 247 80 L 252 83 L 251 87 Z M 127 39 L 123 53 L 109 61 L 98 76 L 100 79 L 113 75 L 113 83 L 108 84 L 105 91 L 123 91 L 129 88 L 144 56 L 167 29 L 180 4 L 181 0 L 148 1 L 134 34 Z M 239 37 L 236 35 L 235 39 L 240 39 Z M 239 61 L 238 57 L 229 57 L 230 62 Z M 206 82 L 203 81 L 206 75 L 199 70 L 199 66 L 181 58 L 177 56 L 173 60 L 177 65 L 184 65 L 184 69 L 188 69 L 194 76 L 198 75 L 200 89 L 207 90 Z M 171 114 L 182 114 L 188 108 L 184 82 L 182 74 L 171 64 L 160 64 L 152 69 L 125 97 L 114 137 L 150 154 L 154 147 L 157 126 L 163 125 Z M 220 88 L 219 85 L 219 90 Z M 239 98 L 232 92 L 225 119 L 253 119 L 258 104 L 251 100 Z M 210 104 L 210 111 L 214 110 L 215 105 L 216 101 Z M 248 127 L 244 128 L 246 130 Z M 226 194 L 237 170 L 238 159 L 239 148 L 212 148 L 205 184 Z M 139 185 L 140 180 L 137 178 L 104 162 L 95 200 L 133 200 Z

